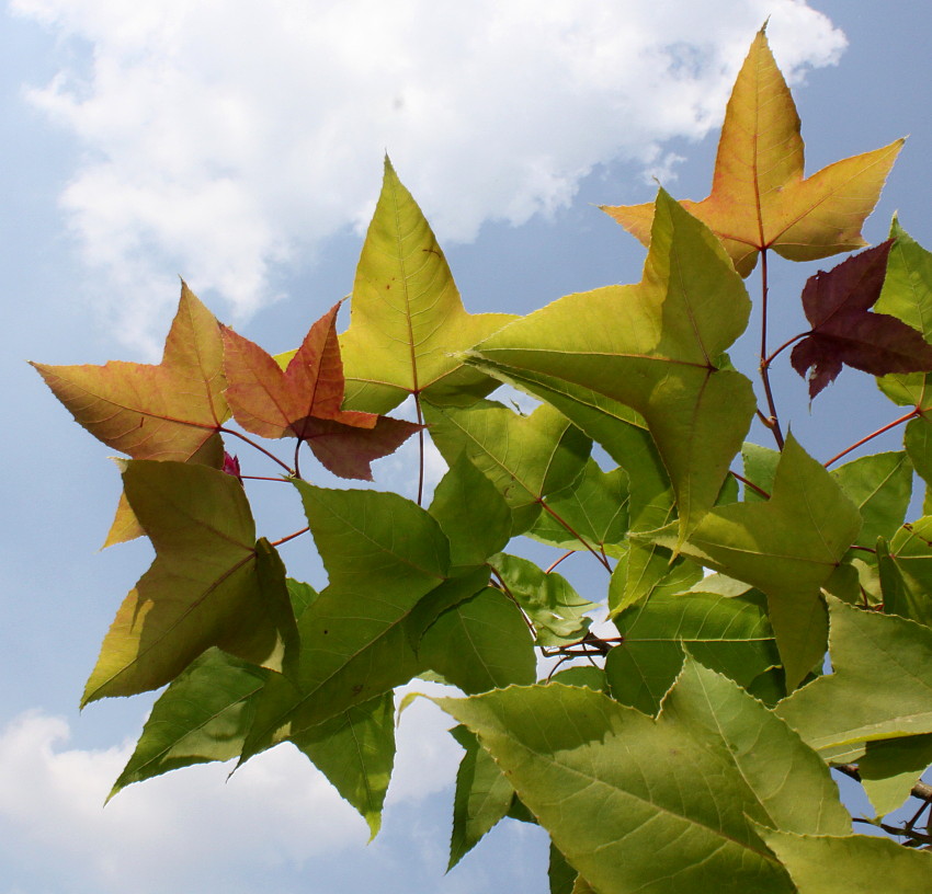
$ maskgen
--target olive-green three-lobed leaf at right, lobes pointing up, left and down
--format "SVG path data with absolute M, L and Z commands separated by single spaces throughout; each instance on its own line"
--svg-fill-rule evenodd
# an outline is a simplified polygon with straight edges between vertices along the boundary
M 856 507 L 788 435 L 771 498 L 714 509 L 684 552 L 766 594 L 786 685 L 793 689 L 825 654 L 827 617 L 819 588 L 860 528 Z M 670 545 L 673 536 L 660 542 Z

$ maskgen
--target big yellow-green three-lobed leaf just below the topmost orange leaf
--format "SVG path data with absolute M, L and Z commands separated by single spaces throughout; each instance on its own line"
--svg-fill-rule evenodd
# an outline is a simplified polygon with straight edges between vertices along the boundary
M 544 377 L 584 405 L 594 391 L 636 410 L 673 484 L 679 546 L 718 497 L 754 413 L 750 381 L 721 368 L 749 310 L 718 240 L 661 190 L 639 284 L 569 295 L 475 353 L 484 369 Z

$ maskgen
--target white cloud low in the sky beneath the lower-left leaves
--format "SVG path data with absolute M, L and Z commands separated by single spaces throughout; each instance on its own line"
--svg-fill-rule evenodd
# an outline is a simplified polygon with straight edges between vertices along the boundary
M 405 712 L 390 805 L 421 803 L 451 784 L 461 752 L 448 725 L 427 702 Z M 291 746 L 253 758 L 229 781 L 231 765 L 202 765 L 130 786 L 104 809 L 133 745 L 68 748 L 69 737 L 67 721 L 41 711 L 0 730 L 0 864 L 10 869 L 5 884 L 23 891 L 247 894 L 266 872 L 306 873 L 305 882 L 339 873 L 343 855 L 361 853 L 368 838 L 363 820 Z M 391 858 L 378 839 L 366 851 L 376 862 Z

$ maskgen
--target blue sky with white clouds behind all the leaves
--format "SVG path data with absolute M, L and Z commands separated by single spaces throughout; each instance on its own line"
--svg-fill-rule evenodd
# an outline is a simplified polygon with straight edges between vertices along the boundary
M 111 451 L 25 360 L 157 359 L 180 275 L 245 335 L 273 352 L 294 347 L 351 289 L 386 152 L 470 312 L 527 313 L 570 291 L 637 282 L 643 248 L 595 206 L 649 200 L 656 181 L 679 197 L 706 195 L 730 85 L 768 16 L 807 172 L 909 135 L 865 236 L 883 240 L 898 210 L 932 247 L 932 16 L 917 9 L 8 2 L 0 894 L 543 894 L 546 838 L 518 823 L 443 874 L 458 748 L 427 704 L 401 722 L 384 830 L 368 846 L 363 821 L 288 746 L 229 781 L 229 768 L 191 768 L 102 807 L 152 699 L 82 714 L 77 701 L 151 555 L 143 542 L 99 551 L 118 494 Z M 805 328 L 797 296 L 817 266 L 775 267 L 774 344 Z M 753 368 L 749 346 L 734 356 Z M 775 387 L 794 433 L 823 459 L 895 417 L 852 370 L 811 410 L 794 374 L 781 371 Z M 891 435 L 876 449 L 897 446 Z M 378 486 L 410 492 L 410 458 L 385 460 Z M 287 532 L 275 507 L 259 513 L 270 536 Z M 319 573 L 297 548 L 285 560 Z

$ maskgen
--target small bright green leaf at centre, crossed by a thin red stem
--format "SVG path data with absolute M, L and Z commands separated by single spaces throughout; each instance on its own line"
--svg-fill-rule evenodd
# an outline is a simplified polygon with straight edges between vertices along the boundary
M 550 513 L 542 513 L 534 526 L 525 531 L 528 537 L 565 550 L 584 550 L 586 543 L 615 558 L 625 553 L 628 532 L 628 477 L 624 469 L 603 472 L 590 458 L 582 477 L 569 492 L 561 491 L 546 501 L 553 513 L 561 518 L 579 537 L 573 537 L 565 525 Z

